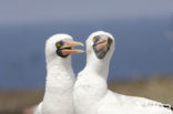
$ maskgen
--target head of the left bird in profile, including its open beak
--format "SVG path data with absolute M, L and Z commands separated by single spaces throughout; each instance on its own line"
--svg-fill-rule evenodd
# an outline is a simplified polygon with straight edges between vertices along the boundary
M 57 58 L 67 59 L 72 53 L 82 53 L 83 50 L 74 49 L 77 45 L 83 45 L 83 43 L 74 41 L 69 34 L 54 34 L 47 40 L 45 56 L 51 61 Z

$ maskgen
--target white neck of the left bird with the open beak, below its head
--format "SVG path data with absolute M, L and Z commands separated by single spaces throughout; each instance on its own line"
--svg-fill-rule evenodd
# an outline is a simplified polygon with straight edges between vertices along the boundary
M 74 74 L 71 59 L 47 62 L 47 83 L 42 103 L 44 114 L 73 114 Z

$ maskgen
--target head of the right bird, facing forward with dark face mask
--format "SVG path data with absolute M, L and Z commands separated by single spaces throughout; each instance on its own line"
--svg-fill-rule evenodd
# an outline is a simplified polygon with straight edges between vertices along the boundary
M 86 53 L 92 54 L 99 60 L 112 56 L 114 51 L 114 38 L 104 31 L 93 32 L 86 40 Z

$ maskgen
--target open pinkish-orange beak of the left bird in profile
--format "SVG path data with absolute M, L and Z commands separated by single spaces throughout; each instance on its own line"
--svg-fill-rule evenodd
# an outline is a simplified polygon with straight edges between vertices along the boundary
M 83 50 L 74 49 L 74 46 L 81 45 L 83 46 L 84 44 L 81 42 L 77 42 L 73 40 L 65 40 L 64 46 L 61 48 L 62 54 L 72 54 L 72 53 L 83 53 Z

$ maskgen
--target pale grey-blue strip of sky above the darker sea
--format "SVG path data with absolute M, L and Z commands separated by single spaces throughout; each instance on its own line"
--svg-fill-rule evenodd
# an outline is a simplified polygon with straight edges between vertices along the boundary
M 172 15 L 173 0 L 0 0 L 0 24 Z

